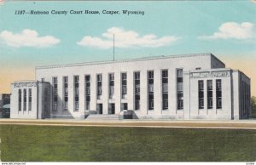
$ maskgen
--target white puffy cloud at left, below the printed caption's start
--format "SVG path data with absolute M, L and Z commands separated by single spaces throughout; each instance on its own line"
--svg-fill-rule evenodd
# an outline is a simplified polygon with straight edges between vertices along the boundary
M 0 39 L 10 47 L 37 47 L 45 48 L 60 43 L 60 39 L 52 36 L 38 37 L 38 32 L 30 29 L 25 29 L 20 33 L 12 31 L 2 31 Z

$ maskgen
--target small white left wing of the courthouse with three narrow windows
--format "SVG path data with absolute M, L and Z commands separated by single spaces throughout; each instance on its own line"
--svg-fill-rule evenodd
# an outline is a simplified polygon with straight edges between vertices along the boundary
M 49 83 L 36 81 L 11 84 L 10 118 L 49 117 Z

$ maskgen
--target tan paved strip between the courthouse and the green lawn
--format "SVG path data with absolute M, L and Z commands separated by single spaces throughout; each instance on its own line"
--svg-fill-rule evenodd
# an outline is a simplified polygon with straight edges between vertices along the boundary
M 170 120 L 75 120 L 75 119 L 0 119 L 1 124 L 87 126 L 87 127 L 143 127 L 143 128 L 233 128 L 256 129 L 256 120 L 241 121 L 170 121 Z

